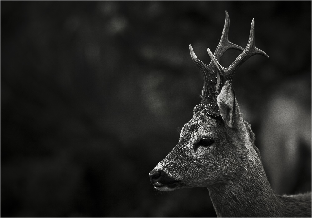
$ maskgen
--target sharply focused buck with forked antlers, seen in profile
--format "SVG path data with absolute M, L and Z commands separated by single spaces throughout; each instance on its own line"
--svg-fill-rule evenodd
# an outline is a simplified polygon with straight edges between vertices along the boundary
M 241 115 L 232 87 L 238 67 L 253 55 L 269 57 L 255 46 L 254 19 L 245 49 L 228 40 L 226 19 L 220 42 L 204 64 L 189 45 L 192 60 L 201 70 L 201 103 L 181 129 L 178 144 L 149 173 L 159 191 L 207 187 L 218 217 L 311 217 L 311 192 L 276 194 L 266 177 L 251 125 Z M 219 61 L 228 49 L 242 51 L 224 68 Z

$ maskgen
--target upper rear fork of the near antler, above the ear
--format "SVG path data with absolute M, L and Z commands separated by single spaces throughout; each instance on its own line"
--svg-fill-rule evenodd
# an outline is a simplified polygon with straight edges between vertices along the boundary
M 258 49 L 255 46 L 255 19 L 252 19 L 247 46 L 244 51 L 236 58 L 236 60 L 225 69 L 226 80 L 232 81 L 236 69 L 248 58 L 256 54 L 265 56 L 267 58 L 269 57 L 264 51 Z

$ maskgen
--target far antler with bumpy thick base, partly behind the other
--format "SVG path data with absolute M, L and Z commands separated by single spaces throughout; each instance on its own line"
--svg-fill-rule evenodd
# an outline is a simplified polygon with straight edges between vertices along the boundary
M 217 63 L 221 59 L 224 52 L 227 51 L 228 49 L 237 49 L 240 51 L 244 50 L 241 46 L 233 44 L 232 42 L 229 41 L 228 39 L 229 27 L 230 27 L 230 18 L 229 18 L 229 14 L 227 13 L 227 11 L 225 11 L 224 28 L 222 31 L 220 42 L 214 53 L 214 57 L 217 60 Z M 191 57 L 194 63 L 199 67 L 199 69 L 202 71 L 202 74 L 204 76 L 204 86 L 202 88 L 201 104 L 209 105 L 212 111 L 218 112 L 219 109 L 218 109 L 217 102 L 216 102 L 217 94 L 218 94 L 217 93 L 218 89 L 216 88 L 216 85 L 218 84 L 217 77 L 219 75 L 218 68 L 213 61 L 211 61 L 209 65 L 204 64 L 202 61 L 200 61 L 197 58 L 191 45 L 189 46 L 189 48 L 190 48 Z

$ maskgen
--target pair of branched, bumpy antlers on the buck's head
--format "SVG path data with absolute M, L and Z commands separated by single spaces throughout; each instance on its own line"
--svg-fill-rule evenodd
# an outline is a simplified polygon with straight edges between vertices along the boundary
M 237 68 L 245 62 L 248 58 L 253 55 L 260 54 L 266 57 L 266 53 L 255 46 L 255 20 L 252 19 L 250 34 L 248 43 L 245 49 L 241 46 L 233 44 L 228 40 L 228 31 L 230 27 L 230 19 L 227 11 L 225 11 L 225 23 L 222 32 L 220 42 L 216 48 L 214 54 L 207 48 L 208 55 L 211 58 L 209 65 L 204 64 L 200 61 L 195 55 L 192 46 L 190 45 L 190 53 L 193 61 L 202 71 L 204 76 L 204 86 L 202 88 L 202 101 L 201 105 L 206 105 L 208 110 L 212 113 L 208 114 L 218 114 L 219 108 L 217 104 L 217 95 L 220 93 L 226 80 L 232 82 L 233 75 L 236 72 Z M 243 51 L 236 60 L 227 68 L 224 68 L 220 65 L 219 60 L 228 49 L 237 49 Z

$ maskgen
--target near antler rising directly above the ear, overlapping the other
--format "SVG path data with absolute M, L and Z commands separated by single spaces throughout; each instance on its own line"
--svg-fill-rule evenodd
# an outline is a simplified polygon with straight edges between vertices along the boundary
M 244 51 L 235 59 L 235 61 L 227 68 L 224 68 L 220 65 L 217 60 L 217 57 L 212 54 L 209 48 L 207 48 L 208 55 L 211 58 L 213 65 L 218 69 L 220 73 L 220 85 L 218 87 L 218 92 L 221 91 L 222 86 L 226 80 L 230 80 L 232 82 L 233 75 L 236 72 L 237 68 L 244 63 L 248 58 L 253 55 L 259 54 L 265 57 L 269 57 L 264 51 L 258 49 L 255 46 L 255 19 L 252 19 L 250 34 L 246 48 Z

